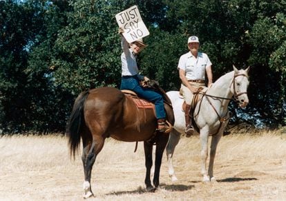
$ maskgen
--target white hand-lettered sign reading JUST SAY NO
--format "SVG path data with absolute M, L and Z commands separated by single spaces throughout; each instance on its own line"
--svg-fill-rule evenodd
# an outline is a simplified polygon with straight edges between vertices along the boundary
M 123 36 L 128 43 L 137 41 L 149 35 L 149 30 L 142 21 L 137 6 L 132 6 L 115 15 L 120 28 L 124 30 Z

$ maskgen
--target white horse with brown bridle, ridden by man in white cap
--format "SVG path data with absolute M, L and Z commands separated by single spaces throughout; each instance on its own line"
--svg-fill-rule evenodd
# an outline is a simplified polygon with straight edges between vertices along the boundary
M 247 87 L 249 67 L 246 70 L 237 70 L 233 65 L 233 71 L 221 76 L 218 81 L 207 88 L 204 93 L 200 92 L 201 98 L 194 110 L 194 121 L 198 127 L 196 130 L 200 134 L 202 160 L 202 181 L 213 182 L 213 161 L 216 156 L 216 147 L 222 137 L 225 126 L 229 122 L 228 105 L 232 97 L 238 100 L 240 107 L 246 107 L 249 100 L 247 97 Z M 184 133 L 185 118 L 182 111 L 184 100 L 179 92 L 171 91 L 166 93 L 171 99 L 175 123 L 173 131 L 170 133 L 169 142 L 166 145 L 166 155 L 169 165 L 169 176 L 172 181 L 178 180 L 173 169 L 173 153 L 178 145 L 180 134 Z M 211 151 L 209 158 L 209 171 L 207 172 L 208 140 L 211 136 Z

